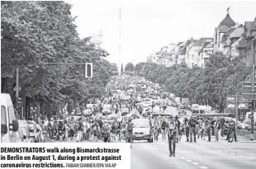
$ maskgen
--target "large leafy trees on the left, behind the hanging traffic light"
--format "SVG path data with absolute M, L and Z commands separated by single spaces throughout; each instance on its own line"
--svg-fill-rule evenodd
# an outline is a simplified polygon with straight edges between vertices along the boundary
M 21 93 L 50 111 L 66 102 L 82 102 L 104 93 L 117 68 L 90 38 L 80 39 L 71 6 L 66 2 L 1 2 L 2 92 L 15 98 L 16 68 Z M 84 66 L 47 63 L 93 63 L 93 77 Z

